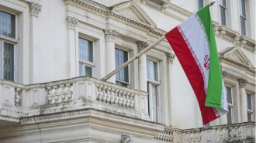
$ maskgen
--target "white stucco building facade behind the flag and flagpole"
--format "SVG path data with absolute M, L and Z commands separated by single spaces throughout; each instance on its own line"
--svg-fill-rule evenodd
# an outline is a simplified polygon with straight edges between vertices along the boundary
M 208 3 L 0 0 L 0 142 L 254 142 L 255 0 L 210 7 L 230 112 L 206 127 L 166 39 L 101 80 Z

